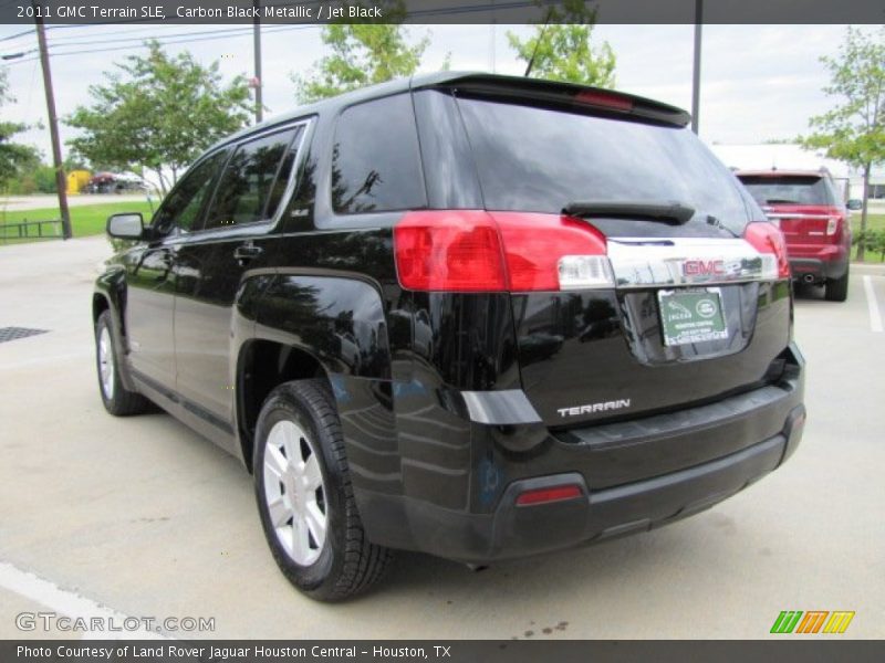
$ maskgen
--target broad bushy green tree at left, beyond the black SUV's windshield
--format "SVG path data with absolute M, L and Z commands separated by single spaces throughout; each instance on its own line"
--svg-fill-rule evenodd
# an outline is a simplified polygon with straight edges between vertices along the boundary
M 148 170 L 166 193 L 201 151 L 244 126 L 252 108 L 243 76 L 222 85 L 218 62 L 205 67 L 190 53 L 169 56 L 156 41 L 146 45 L 146 56 L 131 55 L 121 71 L 105 72 L 106 83 L 90 87 L 92 105 L 65 122 L 83 131 L 69 140 L 79 156 L 139 175 Z

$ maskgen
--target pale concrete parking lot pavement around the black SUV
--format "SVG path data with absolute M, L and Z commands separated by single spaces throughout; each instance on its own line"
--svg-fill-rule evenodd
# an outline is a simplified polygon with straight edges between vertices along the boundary
M 48 330 L 0 343 L 0 638 L 45 610 L 263 639 L 766 638 L 781 610 L 853 610 L 844 638 L 885 636 L 885 270 L 855 270 L 846 304 L 799 299 L 805 439 L 737 497 L 478 573 L 403 554 L 371 594 L 324 606 L 278 572 L 232 457 L 165 414 L 104 412 L 88 312 L 108 251 L 0 249 L 0 327 Z

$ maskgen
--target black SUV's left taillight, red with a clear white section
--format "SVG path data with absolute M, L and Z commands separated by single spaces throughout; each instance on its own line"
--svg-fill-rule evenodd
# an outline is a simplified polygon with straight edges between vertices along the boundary
M 394 229 L 407 290 L 528 292 L 613 287 L 605 238 L 580 219 L 477 210 L 409 212 Z

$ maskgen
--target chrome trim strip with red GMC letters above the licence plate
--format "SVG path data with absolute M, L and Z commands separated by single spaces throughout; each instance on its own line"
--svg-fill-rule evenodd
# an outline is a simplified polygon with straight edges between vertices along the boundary
M 618 288 L 720 285 L 772 281 L 774 255 L 742 239 L 608 238 L 608 260 Z

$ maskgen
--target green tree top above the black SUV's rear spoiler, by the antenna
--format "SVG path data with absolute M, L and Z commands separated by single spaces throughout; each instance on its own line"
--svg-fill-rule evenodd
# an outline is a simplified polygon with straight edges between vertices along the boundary
M 591 45 L 595 10 L 583 0 L 565 0 L 562 11 L 551 7 L 543 25 L 534 27 L 534 36 L 522 40 L 507 33 L 517 57 L 532 63 L 531 76 L 565 81 L 596 87 L 614 87 L 615 54 L 608 42 Z M 554 24 L 556 23 L 556 24 Z

